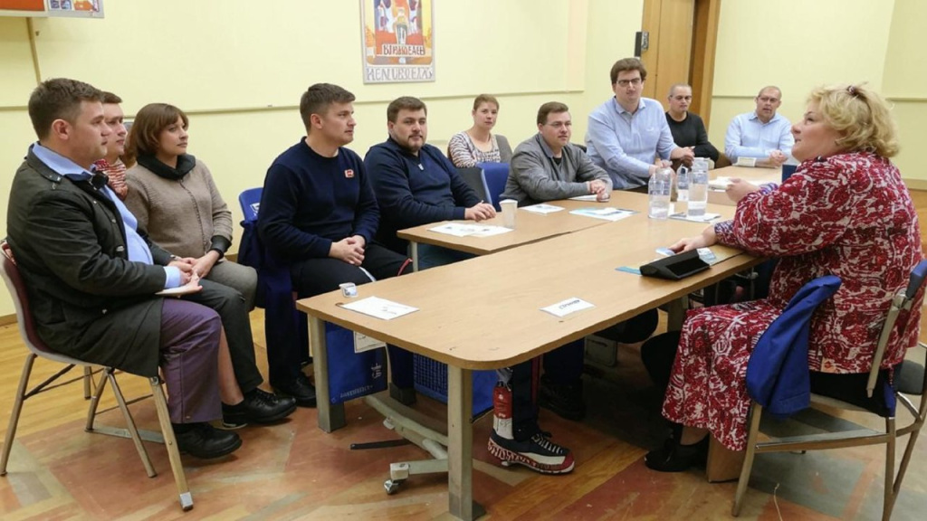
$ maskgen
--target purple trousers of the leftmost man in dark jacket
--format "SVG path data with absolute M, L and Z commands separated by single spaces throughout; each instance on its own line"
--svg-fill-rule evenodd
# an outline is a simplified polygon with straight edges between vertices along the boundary
M 160 366 L 168 388 L 171 423 L 209 422 L 222 417 L 219 340 L 222 320 L 194 302 L 164 299 Z

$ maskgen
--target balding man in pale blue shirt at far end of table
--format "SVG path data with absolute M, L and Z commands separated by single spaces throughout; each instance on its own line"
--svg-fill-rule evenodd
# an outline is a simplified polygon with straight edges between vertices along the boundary
M 754 98 L 756 110 L 735 116 L 724 136 L 724 153 L 730 162 L 754 158 L 756 166 L 779 168 L 789 159 L 792 146 L 792 123 L 776 109 L 782 103 L 779 87 L 763 87 Z

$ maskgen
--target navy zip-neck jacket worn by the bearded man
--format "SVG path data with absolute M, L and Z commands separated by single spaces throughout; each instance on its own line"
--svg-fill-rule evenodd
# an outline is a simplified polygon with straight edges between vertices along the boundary
M 464 210 L 479 203 L 476 192 L 436 146 L 425 145 L 414 156 L 390 138 L 372 146 L 363 164 L 383 215 L 377 240 L 403 255 L 406 245 L 396 237 L 397 230 L 462 220 Z

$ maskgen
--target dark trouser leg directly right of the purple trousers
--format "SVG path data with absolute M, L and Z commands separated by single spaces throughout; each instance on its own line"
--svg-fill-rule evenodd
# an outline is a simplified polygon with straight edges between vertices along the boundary
M 219 313 L 238 387 L 242 392 L 257 388 L 263 378 L 255 362 L 254 336 L 245 298 L 237 289 L 210 280 L 202 279 L 199 284 L 203 286 L 202 291 L 187 295 L 184 300 L 197 302 Z

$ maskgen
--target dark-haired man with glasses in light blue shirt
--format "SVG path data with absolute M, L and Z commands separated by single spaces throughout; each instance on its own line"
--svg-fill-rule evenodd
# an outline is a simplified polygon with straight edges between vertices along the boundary
M 627 57 L 616 61 L 611 71 L 609 99 L 589 115 L 586 146 L 592 162 L 608 172 L 616 190 L 646 191 L 650 176 L 670 159 L 692 164 L 691 147 L 673 143 L 663 106 L 641 97 L 647 70 L 641 60 Z M 654 159 L 662 159 L 655 163 Z

